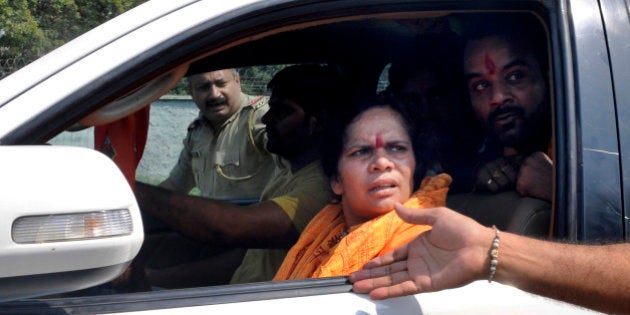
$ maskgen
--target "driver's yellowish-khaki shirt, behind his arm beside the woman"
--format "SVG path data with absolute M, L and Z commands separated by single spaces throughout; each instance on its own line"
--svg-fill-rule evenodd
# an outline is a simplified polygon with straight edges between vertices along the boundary
M 333 192 L 319 161 L 294 174 L 288 169 L 269 182 L 261 201 L 272 200 L 278 204 L 302 233 L 319 210 L 333 199 Z M 288 252 L 288 248 L 247 250 L 230 283 L 270 281 Z

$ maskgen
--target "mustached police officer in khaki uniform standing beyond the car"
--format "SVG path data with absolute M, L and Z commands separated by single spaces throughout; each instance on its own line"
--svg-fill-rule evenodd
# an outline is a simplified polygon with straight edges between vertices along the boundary
M 180 192 L 198 187 L 215 200 L 257 200 L 276 170 L 265 144 L 267 98 L 241 92 L 236 69 L 189 77 L 199 117 L 188 127 L 179 160 L 160 186 Z

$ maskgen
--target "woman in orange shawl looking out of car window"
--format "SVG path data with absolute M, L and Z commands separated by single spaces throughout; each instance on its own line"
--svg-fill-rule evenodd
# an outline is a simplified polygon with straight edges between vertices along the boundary
M 393 211 L 397 203 L 444 206 L 451 182 L 447 174 L 422 178 L 435 145 L 409 117 L 395 100 L 382 98 L 330 126 L 322 164 L 338 200 L 310 221 L 274 280 L 348 275 L 430 229 Z

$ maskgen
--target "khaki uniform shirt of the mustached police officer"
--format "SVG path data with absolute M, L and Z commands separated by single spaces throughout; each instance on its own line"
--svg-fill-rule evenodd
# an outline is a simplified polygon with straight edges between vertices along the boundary
M 241 108 L 219 130 L 199 113 L 188 127 L 179 160 L 162 187 L 216 200 L 257 201 L 276 172 L 274 156 L 266 149 L 267 133 L 261 118 L 268 100 L 241 93 Z

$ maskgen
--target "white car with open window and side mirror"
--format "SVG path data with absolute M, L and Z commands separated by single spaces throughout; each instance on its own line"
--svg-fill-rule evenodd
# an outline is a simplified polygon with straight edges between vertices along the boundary
M 202 70 L 327 63 L 353 78 L 349 93 L 373 93 L 416 34 L 484 11 L 530 12 L 549 35 L 555 195 L 525 210 L 542 213 L 532 224 L 569 241 L 626 239 L 627 2 L 152 0 L 0 81 L 0 313 L 591 313 L 487 281 L 385 301 L 345 277 L 67 294 L 118 277 L 148 235 L 110 159 L 51 139 L 124 117 Z

